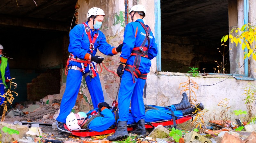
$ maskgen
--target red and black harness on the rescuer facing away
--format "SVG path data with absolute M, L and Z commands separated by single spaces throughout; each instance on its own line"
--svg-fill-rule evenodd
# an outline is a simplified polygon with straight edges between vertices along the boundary
M 136 22 L 139 22 L 139 21 L 136 21 Z M 132 74 L 133 83 L 135 83 L 135 77 L 146 80 L 147 75 L 148 75 L 148 73 L 141 74 L 140 70 L 139 70 L 139 67 L 140 67 L 141 57 L 148 58 L 148 48 L 150 47 L 150 38 L 149 38 L 149 36 L 150 36 L 151 30 L 150 30 L 150 27 L 148 25 L 146 26 L 142 22 L 139 22 L 139 23 L 142 25 L 142 27 L 146 31 L 146 36 L 145 36 L 145 39 L 144 39 L 143 43 L 139 47 L 134 47 L 132 49 L 131 56 L 135 56 L 135 60 L 134 60 L 133 65 L 126 65 L 125 68 L 124 68 L 126 71 L 129 71 Z M 147 40 L 148 40 L 148 47 L 145 46 Z

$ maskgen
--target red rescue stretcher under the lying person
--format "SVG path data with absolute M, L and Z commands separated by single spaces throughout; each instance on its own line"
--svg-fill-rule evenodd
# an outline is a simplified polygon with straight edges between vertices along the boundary
M 176 124 L 184 123 L 190 119 L 193 118 L 196 114 L 193 115 L 186 115 L 186 116 L 180 116 L 179 119 L 176 119 Z M 96 132 L 92 131 L 91 129 L 76 129 L 76 130 L 69 130 L 66 124 L 63 124 L 59 121 L 56 121 L 56 125 L 58 130 L 70 133 L 71 135 L 78 136 L 78 137 L 90 137 L 90 136 L 97 136 L 97 135 L 103 135 L 103 134 L 109 134 L 116 132 L 115 126 L 111 126 L 108 128 L 108 130 L 102 131 L 102 132 Z M 158 125 L 168 126 L 168 125 L 174 125 L 173 120 L 163 120 L 163 121 L 157 121 L 157 122 L 149 122 L 145 123 L 145 128 L 155 128 Z M 130 124 L 127 125 L 127 131 L 132 131 L 136 127 L 136 124 Z

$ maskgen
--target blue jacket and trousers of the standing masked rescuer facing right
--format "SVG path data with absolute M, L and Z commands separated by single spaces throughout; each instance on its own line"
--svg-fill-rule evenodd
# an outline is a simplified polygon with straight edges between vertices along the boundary
M 88 25 L 88 22 L 86 22 Z M 93 35 L 99 31 L 98 38 L 96 39 L 94 43 L 95 50 L 93 51 L 92 56 L 95 56 L 97 49 L 100 50 L 105 55 L 114 55 L 116 53 L 112 53 L 113 48 L 110 46 L 107 41 L 105 35 L 100 30 L 91 30 L 91 37 L 93 39 Z M 69 46 L 68 46 L 68 52 L 73 54 L 75 57 L 79 59 L 84 59 L 86 53 L 91 54 L 91 50 L 89 49 L 89 38 L 85 32 L 85 27 L 83 24 L 76 25 L 69 33 Z M 78 68 L 82 68 L 81 63 L 76 61 L 70 61 L 68 66 L 77 66 Z M 94 65 L 93 65 L 94 66 Z M 82 75 L 88 73 L 89 65 L 87 68 L 85 68 L 85 73 L 82 71 L 75 69 L 69 69 L 68 70 L 68 76 L 67 76 L 67 84 L 66 89 L 64 92 L 64 95 L 61 100 L 60 104 L 60 114 L 58 118 L 56 119 L 59 122 L 66 123 L 66 118 L 72 108 L 75 106 L 76 98 L 78 95 L 78 91 L 81 85 L 82 81 Z M 94 66 L 95 68 L 95 66 Z M 103 91 L 100 84 L 100 78 L 98 73 L 96 73 L 97 76 L 94 78 L 90 78 L 90 76 L 85 77 L 85 82 L 87 85 L 87 88 L 90 92 L 91 98 L 92 98 L 92 104 L 94 108 L 97 108 L 97 105 L 100 102 L 104 102 L 103 97 Z

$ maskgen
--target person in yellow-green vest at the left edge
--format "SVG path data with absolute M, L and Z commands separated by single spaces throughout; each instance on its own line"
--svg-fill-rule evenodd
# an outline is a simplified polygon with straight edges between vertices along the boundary
M 9 70 L 9 64 L 8 64 L 8 59 L 2 56 L 4 47 L 0 45 L 0 95 L 4 95 L 5 93 L 5 88 L 7 87 L 7 84 L 10 82 L 8 79 L 11 79 L 10 76 L 10 70 Z M 0 97 L 0 105 L 4 103 L 4 97 Z M 2 110 L 2 106 L 0 108 L 0 112 Z

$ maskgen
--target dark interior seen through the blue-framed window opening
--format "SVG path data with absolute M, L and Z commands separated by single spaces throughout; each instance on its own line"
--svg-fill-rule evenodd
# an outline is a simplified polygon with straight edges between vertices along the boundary
M 226 34 L 228 0 L 161 1 L 162 71 L 187 73 L 194 67 L 201 73 L 218 73 L 217 63 L 223 61 L 221 38 Z M 230 73 L 229 53 L 224 59 L 225 73 Z

